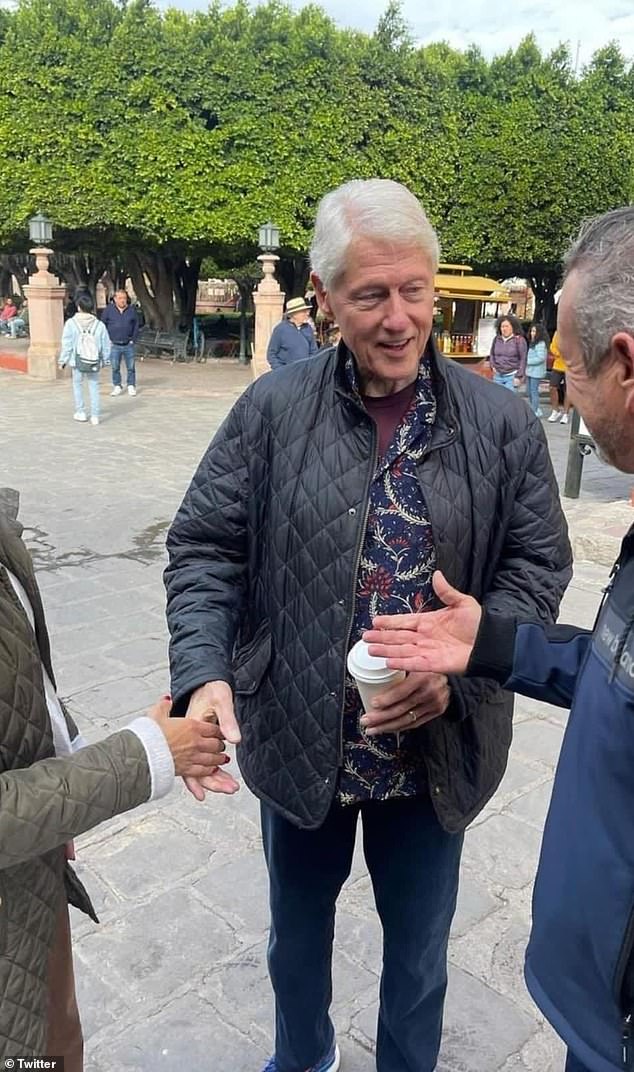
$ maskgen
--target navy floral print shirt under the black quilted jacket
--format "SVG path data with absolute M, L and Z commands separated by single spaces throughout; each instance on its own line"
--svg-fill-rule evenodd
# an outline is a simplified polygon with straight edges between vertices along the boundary
M 345 373 L 358 396 L 356 370 L 349 356 Z M 350 647 L 360 640 L 375 614 L 422 610 L 433 598 L 431 576 L 436 549 L 431 525 L 416 476 L 436 420 L 436 398 L 429 360 L 423 357 L 414 397 L 370 487 L 369 513 L 359 564 Z M 341 804 L 364 800 L 413 796 L 427 785 L 418 732 L 368 736 L 359 718 L 360 698 L 348 678 L 343 709 L 343 765 L 339 772 Z

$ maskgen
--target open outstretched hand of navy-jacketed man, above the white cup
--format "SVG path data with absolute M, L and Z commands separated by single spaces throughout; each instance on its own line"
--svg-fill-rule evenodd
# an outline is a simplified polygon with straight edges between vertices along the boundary
M 387 659 L 390 670 L 465 673 L 482 620 L 482 607 L 447 583 L 440 570 L 433 591 L 444 610 L 421 614 L 382 614 L 364 632 L 370 655 Z

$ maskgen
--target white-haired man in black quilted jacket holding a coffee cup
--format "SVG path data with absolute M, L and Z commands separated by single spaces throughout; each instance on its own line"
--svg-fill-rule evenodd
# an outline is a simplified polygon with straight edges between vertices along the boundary
M 347 655 L 377 613 L 437 606 L 437 568 L 491 610 L 550 622 L 570 547 L 540 422 L 434 347 L 439 245 L 416 197 L 340 187 L 311 259 L 341 341 L 245 391 L 168 534 L 173 714 L 215 717 L 261 801 L 266 1072 L 339 1068 L 333 936 L 359 817 L 384 937 L 377 1068 L 431 1072 L 462 832 L 504 773 L 512 700 L 491 680 L 411 673 L 364 711 Z M 238 788 L 224 771 L 187 784 Z

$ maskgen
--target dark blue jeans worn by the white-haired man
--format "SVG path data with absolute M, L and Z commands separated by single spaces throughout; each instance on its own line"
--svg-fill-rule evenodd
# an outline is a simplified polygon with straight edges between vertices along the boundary
M 304 1072 L 333 1044 L 335 905 L 350 874 L 359 812 L 383 924 L 377 1069 L 436 1068 L 462 835 L 441 828 L 429 798 L 408 796 L 345 807 L 335 803 L 318 830 L 299 830 L 261 805 L 280 1072 Z

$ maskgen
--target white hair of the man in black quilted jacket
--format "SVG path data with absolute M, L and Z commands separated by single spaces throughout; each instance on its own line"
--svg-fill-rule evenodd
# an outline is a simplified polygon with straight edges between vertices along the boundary
M 438 236 L 417 197 L 392 179 L 353 179 L 320 202 L 310 265 L 328 289 L 345 270 L 351 242 L 363 236 L 396 245 L 417 245 L 431 270 L 440 260 Z

